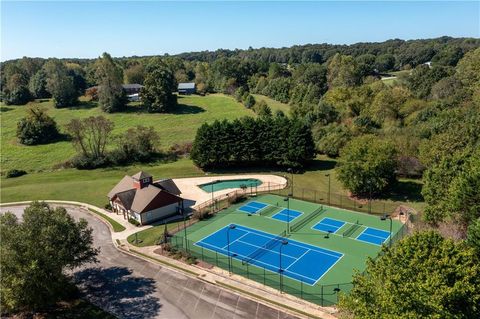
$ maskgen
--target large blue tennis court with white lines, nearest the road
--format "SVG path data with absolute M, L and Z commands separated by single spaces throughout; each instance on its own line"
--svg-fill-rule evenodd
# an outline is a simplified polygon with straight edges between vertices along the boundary
M 284 241 L 287 241 L 286 245 L 282 243 Z M 278 237 L 241 225 L 235 225 L 233 229 L 225 226 L 196 242 L 195 245 L 225 256 L 228 256 L 228 249 L 230 249 L 230 256 L 234 259 L 275 273 L 279 273 L 281 268 L 286 277 L 309 285 L 315 285 L 343 256 L 336 251 Z M 282 250 L 281 265 L 280 249 Z

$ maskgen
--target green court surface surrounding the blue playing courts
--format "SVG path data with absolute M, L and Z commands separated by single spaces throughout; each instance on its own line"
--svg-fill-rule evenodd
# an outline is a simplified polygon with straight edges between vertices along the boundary
M 222 268 L 227 267 L 225 269 L 228 269 L 228 260 L 226 256 L 196 246 L 194 243 L 229 224 L 253 228 L 270 233 L 272 235 L 280 234 L 286 229 L 286 223 L 270 218 L 276 212 L 286 207 L 283 197 L 276 195 L 261 195 L 253 200 L 270 204 L 272 206 L 277 206 L 278 208 L 274 208 L 274 211 L 269 212 L 265 216 L 261 216 L 260 214 L 254 214 L 250 216 L 247 213 L 237 210 L 237 208 L 244 205 L 245 202 L 233 205 L 209 220 L 200 221 L 187 228 L 189 250 L 197 258 L 203 258 L 203 260 L 209 263 L 216 264 Z M 319 208 L 319 204 L 291 199 L 290 209 L 304 213 L 304 215 L 299 217 L 298 220 L 294 220 L 291 225 L 295 225 L 296 222 L 301 221 L 304 217 L 308 216 Z M 299 297 L 303 297 L 313 302 L 321 303 L 320 299 L 324 299 L 325 304 L 331 304 L 335 303 L 336 301 L 336 295 L 332 294 L 333 288 L 341 287 L 343 291 L 348 290 L 351 287 L 349 283 L 352 280 L 352 275 L 354 274 L 355 270 L 363 271 L 365 269 L 365 261 L 367 258 L 375 258 L 380 252 L 380 246 L 365 243 L 356 240 L 355 238 L 365 229 L 365 227 L 373 227 L 388 232 L 390 222 L 382 221 L 378 216 L 342 210 L 334 207 L 323 206 L 323 209 L 324 211 L 321 213 L 321 215 L 316 216 L 313 220 L 310 220 L 298 231 L 292 232 L 290 236 L 287 236 L 287 240 L 296 240 L 320 248 L 333 250 L 342 253 L 343 257 L 330 270 L 328 270 L 314 286 L 301 284 L 299 281 L 285 277 L 284 289 L 288 293 L 298 295 Z M 336 234 L 330 234 L 328 238 L 326 238 L 325 233 L 311 229 L 312 226 L 317 224 L 325 217 L 341 220 L 347 222 L 347 224 L 341 227 Z M 343 237 L 343 232 L 345 232 L 352 226 L 352 224 L 355 223 L 359 223 L 361 226 L 348 237 Z M 399 232 L 400 229 L 403 229 L 402 224 L 398 221 L 393 221 L 392 225 L 393 235 Z M 184 247 L 183 234 L 183 232 L 179 232 L 175 235 L 175 237 L 172 239 L 173 246 L 181 248 Z M 249 277 L 250 279 L 259 281 L 261 283 L 264 283 L 265 281 L 267 285 L 273 286 L 277 289 L 279 288 L 278 273 L 264 270 L 263 268 L 255 265 L 250 265 L 247 267 L 237 259 L 234 259 L 233 265 L 235 273 Z M 341 285 L 336 286 L 337 284 Z M 321 295 L 322 286 L 323 295 Z

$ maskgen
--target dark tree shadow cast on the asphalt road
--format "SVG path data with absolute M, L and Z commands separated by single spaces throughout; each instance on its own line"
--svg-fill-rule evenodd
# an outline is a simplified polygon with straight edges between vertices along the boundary
M 152 296 L 155 280 L 125 267 L 88 268 L 74 275 L 87 299 L 120 318 L 154 318 L 162 305 Z

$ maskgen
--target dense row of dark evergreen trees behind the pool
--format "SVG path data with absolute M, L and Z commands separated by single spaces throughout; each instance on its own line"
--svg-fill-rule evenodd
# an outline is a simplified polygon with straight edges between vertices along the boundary
M 310 128 L 284 116 L 203 124 L 191 158 L 200 167 L 275 165 L 301 168 L 314 156 Z

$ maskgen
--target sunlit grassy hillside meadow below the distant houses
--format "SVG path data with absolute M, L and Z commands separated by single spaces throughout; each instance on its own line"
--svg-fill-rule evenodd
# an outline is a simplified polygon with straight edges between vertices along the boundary
M 107 114 L 102 112 L 96 103 L 86 101 L 78 107 L 64 109 L 54 108 L 51 100 L 30 104 L 45 107 L 61 129 L 73 118 L 98 115 L 103 115 L 115 123 L 114 134 L 136 125 L 153 126 L 160 136 L 160 147 L 164 149 L 175 143 L 192 141 L 197 128 L 205 122 L 254 116 L 253 111 L 221 94 L 179 96 L 178 103 L 178 110 L 167 114 L 149 114 L 140 106 L 130 106 L 128 112 Z M 17 122 L 25 116 L 26 108 L 27 106 L 1 107 L 2 173 L 14 168 L 28 172 L 49 171 L 54 165 L 64 163 L 75 154 L 69 141 L 36 146 L 19 144 L 15 136 Z

